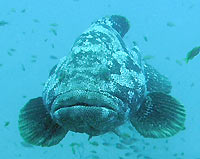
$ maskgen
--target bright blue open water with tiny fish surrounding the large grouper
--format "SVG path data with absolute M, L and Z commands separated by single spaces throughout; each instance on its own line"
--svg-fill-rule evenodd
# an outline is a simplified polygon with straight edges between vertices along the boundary
M 131 28 L 127 46 L 137 43 L 144 58 L 172 82 L 172 96 L 186 108 L 186 129 L 166 139 L 147 139 L 130 123 L 93 137 L 69 132 L 60 144 L 36 147 L 23 141 L 18 115 L 41 96 L 50 69 L 95 20 L 118 14 Z M 200 159 L 200 0 L 0 0 L 1 159 Z

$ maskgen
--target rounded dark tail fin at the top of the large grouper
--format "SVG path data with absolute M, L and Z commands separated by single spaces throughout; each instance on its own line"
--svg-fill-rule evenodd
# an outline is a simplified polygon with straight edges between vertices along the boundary
M 121 35 L 121 37 L 124 37 L 124 35 L 128 32 L 130 28 L 129 21 L 125 17 L 120 15 L 106 16 L 102 19 L 99 19 L 95 23 L 104 24 L 112 27 Z

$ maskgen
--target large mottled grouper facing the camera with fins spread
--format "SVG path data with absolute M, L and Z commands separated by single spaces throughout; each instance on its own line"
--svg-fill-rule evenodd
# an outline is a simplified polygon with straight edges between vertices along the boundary
M 185 109 L 169 95 L 168 78 L 143 60 L 137 46 L 125 45 L 129 28 L 125 17 L 105 16 L 75 40 L 51 69 L 42 97 L 30 99 L 19 112 L 27 143 L 49 147 L 69 131 L 93 137 L 129 121 L 147 138 L 185 129 Z

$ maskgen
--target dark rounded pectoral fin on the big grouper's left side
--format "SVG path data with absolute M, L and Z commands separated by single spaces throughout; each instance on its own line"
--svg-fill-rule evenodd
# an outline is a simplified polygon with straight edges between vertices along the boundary
M 42 97 L 31 99 L 20 111 L 19 131 L 30 144 L 53 146 L 58 144 L 67 131 L 55 123 L 45 109 Z

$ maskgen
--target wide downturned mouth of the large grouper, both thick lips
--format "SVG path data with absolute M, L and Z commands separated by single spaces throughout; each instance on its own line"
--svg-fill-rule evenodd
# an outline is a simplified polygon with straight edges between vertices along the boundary
M 124 123 L 122 106 L 120 99 L 106 92 L 74 90 L 54 100 L 51 115 L 65 129 L 97 136 Z

